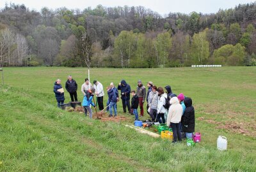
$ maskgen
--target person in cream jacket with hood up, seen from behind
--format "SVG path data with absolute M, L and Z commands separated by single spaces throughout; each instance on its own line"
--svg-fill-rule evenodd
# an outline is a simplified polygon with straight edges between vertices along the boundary
M 180 132 L 180 120 L 182 117 L 183 108 L 177 97 L 172 97 L 172 99 L 170 99 L 170 104 L 171 106 L 168 111 L 167 125 L 172 127 L 173 143 L 177 143 L 177 138 L 179 141 L 182 141 Z

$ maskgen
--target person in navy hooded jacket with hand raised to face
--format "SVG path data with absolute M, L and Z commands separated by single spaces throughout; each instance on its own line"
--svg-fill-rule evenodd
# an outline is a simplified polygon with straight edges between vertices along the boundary
M 122 99 L 124 113 L 126 113 L 126 106 L 127 106 L 129 113 L 132 114 L 131 106 L 130 106 L 130 93 L 131 93 L 130 85 L 127 84 L 125 80 L 122 80 L 119 83 L 117 89 L 121 90 L 121 99 Z

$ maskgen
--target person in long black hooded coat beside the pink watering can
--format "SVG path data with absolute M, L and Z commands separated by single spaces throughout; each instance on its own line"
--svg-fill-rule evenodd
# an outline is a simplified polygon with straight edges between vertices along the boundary
M 184 99 L 184 104 L 186 110 L 181 118 L 182 130 L 186 133 L 186 138 L 192 138 L 192 133 L 195 132 L 195 109 L 190 97 Z

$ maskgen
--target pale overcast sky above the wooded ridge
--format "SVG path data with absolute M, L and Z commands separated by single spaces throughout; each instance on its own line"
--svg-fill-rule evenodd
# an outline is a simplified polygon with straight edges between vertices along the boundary
M 91 6 L 95 8 L 98 4 L 106 7 L 115 6 L 144 6 L 156 11 L 164 16 L 170 12 L 190 13 L 192 11 L 202 13 L 216 13 L 221 9 L 234 8 L 238 4 L 246 4 L 254 1 L 249 0 L 12 0 L 0 1 L 0 8 L 3 8 L 5 3 L 25 4 L 30 10 L 40 11 L 41 8 L 47 6 L 52 10 L 60 7 L 68 9 L 79 8 L 83 10 Z

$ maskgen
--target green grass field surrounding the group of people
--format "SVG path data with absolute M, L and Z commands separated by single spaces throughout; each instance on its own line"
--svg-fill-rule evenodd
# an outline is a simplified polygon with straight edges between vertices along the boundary
M 53 83 L 79 84 L 86 68 L 4 68 L 0 87 L 0 171 L 256 171 L 256 68 L 91 70 L 104 87 L 138 79 L 192 97 L 202 142 L 187 147 L 56 107 Z M 80 89 L 79 89 L 80 90 Z M 78 92 L 82 100 L 81 92 Z M 70 101 L 65 94 L 66 102 Z M 104 98 L 106 101 L 106 97 Z M 145 104 L 146 105 L 146 104 Z M 145 115 L 144 118 L 149 118 Z M 218 135 L 228 150 L 216 149 Z

